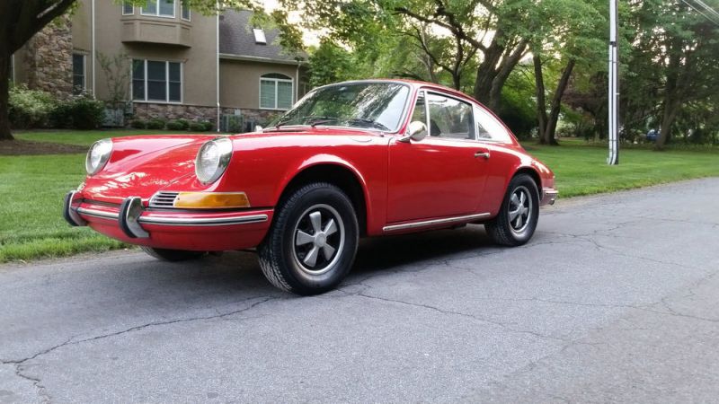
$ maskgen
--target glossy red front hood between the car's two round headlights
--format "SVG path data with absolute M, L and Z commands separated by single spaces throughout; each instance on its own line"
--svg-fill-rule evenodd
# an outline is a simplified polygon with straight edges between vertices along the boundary
M 88 176 L 85 198 L 120 203 L 148 199 L 177 180 L 195 175 L 200 146 L 215 136 L 130 136 L 112 139 L 112 154 L 102 171 Z M 198 182 L 195 180 L 195 182 Z

